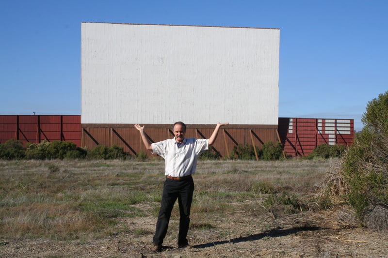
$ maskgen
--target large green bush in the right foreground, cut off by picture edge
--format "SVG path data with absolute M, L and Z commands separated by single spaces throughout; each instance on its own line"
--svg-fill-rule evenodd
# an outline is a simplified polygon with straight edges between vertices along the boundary
M 368 103 L 361 119 L 364 128 L 341 157 L 338 174 L 346 189 L 343 200 L 353 207 L 364 225 L 371 225 L 368 214 L 373 214 L 374 220 L 376 214 L 384 214 L 379 225 L 388 224 L 386 212 L 370 212 L 376 211 L 376 207 L 388 207 L 387 110 L 388 91 Z

